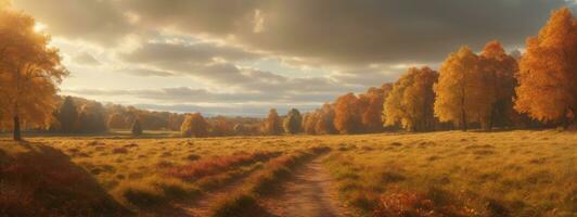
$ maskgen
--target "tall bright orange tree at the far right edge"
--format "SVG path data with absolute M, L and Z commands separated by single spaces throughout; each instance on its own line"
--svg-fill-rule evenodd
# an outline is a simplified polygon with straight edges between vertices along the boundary
M 577 21 L 569 9 L 554 11 L 538 36 L 527 39 L 516 78 L 516 111 L 565 127 L 575 124 Z

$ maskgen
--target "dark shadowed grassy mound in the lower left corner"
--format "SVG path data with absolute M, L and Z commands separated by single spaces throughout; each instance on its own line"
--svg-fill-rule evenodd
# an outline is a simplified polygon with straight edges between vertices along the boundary
M 41 143 L 0 145 L 0 216 L 127 216 L 88 171 Z

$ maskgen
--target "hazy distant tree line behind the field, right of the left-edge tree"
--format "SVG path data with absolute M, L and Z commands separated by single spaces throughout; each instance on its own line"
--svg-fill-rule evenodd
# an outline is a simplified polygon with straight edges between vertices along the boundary
M 178 114 L 153 112 L 133 106 L 101 104 L 76 97 L 55 100 L 49 131 L 61 133 L 101 133 L 128 130 L 139 136 L 143 130 L 181 131 L 183 136 L 222 137 L 259 135 L 259 118 L 215 116 L 204 118 L 200 113 Z

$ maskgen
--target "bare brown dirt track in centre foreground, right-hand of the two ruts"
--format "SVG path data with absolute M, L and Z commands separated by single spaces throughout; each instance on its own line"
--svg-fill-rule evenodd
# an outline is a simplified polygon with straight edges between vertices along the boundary
M 277 216 L 286 217 L 341 217 L 350 216 L 338 202 L 331 176 L 318 157 L 284 184 L 279 196 L 266 200 L 265 206 Z

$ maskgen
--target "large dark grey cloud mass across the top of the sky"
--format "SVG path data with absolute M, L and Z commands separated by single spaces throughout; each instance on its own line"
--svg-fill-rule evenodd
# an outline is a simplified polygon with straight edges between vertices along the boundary
M 480 48 L 492 39 L 522 44 L 551 10 L 567 4 L 564 0 L 123 2 L 149 25 L 231 38 L 254 49 L 332 64 L 436 62 L 461 44 Z

